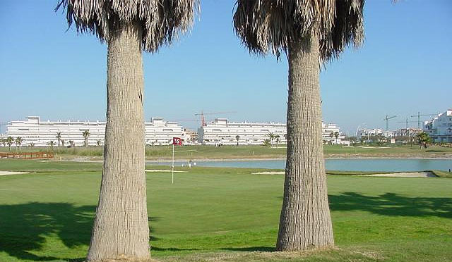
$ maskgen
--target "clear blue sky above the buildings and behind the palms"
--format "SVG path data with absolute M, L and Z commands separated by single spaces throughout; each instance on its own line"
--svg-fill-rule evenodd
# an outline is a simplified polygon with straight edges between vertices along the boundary
M 0 1 L 0 123 L 105 120 L 107 46 L 66 31 L 56 4 Z M 285 122 L 287 60 L 250 56 L 232 30 L 233 8 L 231 0 L 201 1 L 189 34 L 144 54 L 147 120 L 194 128 L 194 113 L 235 111 L 217 117 Z M 452 1 L 367 0 L 364 9 L 362 48 L 321 73 L 323 119 L 351 134 L 364 123 L 385 127 L 386 114 L 398 116 L 390 120 L 396 129 L 418 111 L 452 108 Z

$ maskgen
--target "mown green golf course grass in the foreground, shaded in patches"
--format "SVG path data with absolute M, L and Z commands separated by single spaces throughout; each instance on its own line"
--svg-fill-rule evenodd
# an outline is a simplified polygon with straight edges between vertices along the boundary
M 83 259 L 100 163 L 0 160 L 0 261 Z M 167 168 L 148 166 L 147 168 Z M 178 168 L 182 170 L 183 168 Z M 183 169 L 188 170 L 188 169 Z M 193 168 L 148 173 L 151 254 L 159 261 L 450 261 L 450 178 L 328 176 L 336 249 L 273 251 L 283 175 Z M 262 170 L 258 170 L 262 171 Z

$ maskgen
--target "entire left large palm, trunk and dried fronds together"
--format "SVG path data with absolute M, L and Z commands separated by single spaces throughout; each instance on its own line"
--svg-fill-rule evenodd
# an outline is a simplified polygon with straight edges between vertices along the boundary
M 60 0 L 69 25 L 107 43 L 107 125 L 88 261 L 148 260 L 143 58 L 193 23 L 198 0 Z M 132 190 L 133 189 L 133 190 Z

